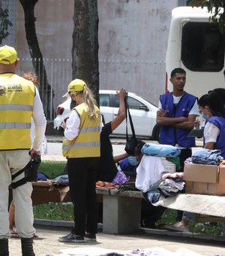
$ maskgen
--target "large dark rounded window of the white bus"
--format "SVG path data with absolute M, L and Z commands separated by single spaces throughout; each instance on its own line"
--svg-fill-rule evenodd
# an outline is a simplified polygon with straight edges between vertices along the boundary
M 191 22 L 184 25 L 181 59 L 187 69 L 219 72 L 224 66 L 223 56 L 224 36 L 217 25 Z

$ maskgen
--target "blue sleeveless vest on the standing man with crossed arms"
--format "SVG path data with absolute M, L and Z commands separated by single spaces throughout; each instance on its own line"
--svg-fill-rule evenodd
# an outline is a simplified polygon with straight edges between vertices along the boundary
M 163 110 L 168 117 L 188 117 L 190 109 L 193 108 L 196 97 L 184 93 L 178 105 L 173 105 L 172 93 L 166 93 L 160 96 L 160 102 Z M 190 130 L 175 128 L 173 126 L 160 126 L 160 144 L 180 145 L 182 148 L 191 148 L 195 146 L 195 138 L 187 137 Z

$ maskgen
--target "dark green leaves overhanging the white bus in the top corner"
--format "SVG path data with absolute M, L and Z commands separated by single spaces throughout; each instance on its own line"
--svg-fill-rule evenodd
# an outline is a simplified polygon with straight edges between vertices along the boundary
M 212 13 L 209 21 L 217 24 L 221 34 L 225 34 L 225 2 L 224 0 L 192 0 L 189 5 L 201 7 L 206 7 L 208 12 Z

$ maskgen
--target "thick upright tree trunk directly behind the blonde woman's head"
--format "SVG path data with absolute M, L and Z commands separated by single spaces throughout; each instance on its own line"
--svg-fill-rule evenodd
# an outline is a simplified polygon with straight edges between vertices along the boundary
M 74 0 L 73 79 L 89 84 L 98 102 L 98 0 Z

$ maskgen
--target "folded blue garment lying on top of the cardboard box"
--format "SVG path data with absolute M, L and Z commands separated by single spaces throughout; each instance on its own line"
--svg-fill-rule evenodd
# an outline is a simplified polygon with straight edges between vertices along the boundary
M 195 151 L 191 157 L 192 163 L 217 165 L 223 160 L 219 149 L 201 148 Z

